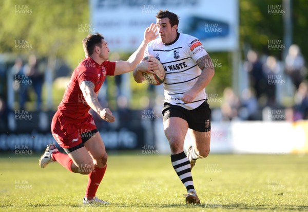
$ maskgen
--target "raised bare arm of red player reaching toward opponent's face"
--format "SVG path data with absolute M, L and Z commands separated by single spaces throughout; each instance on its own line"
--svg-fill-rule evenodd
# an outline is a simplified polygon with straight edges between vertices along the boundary
M 127 61 L 117 61 L 115 62 L 115 70 L 114 75 L 120 75 L 127 72 L 131 72 L 134 68 L 136 68 L 137 64 L 142 60 L 144 49 L 148 42 L 156 39 L 157 37 L 157 28 L 156 24 L 151 24 L 144 31 L 144 39 L 138 49 L 133 52 L 133 54 L 128 58 Z M 155 65 L 155 63 L 152 63 Z

